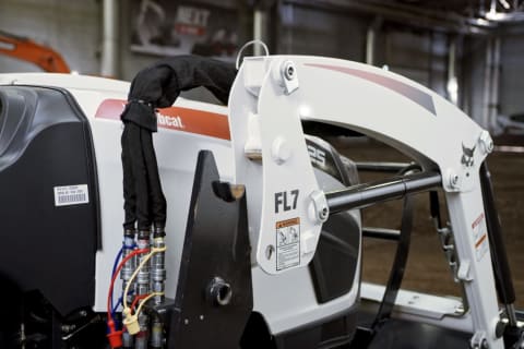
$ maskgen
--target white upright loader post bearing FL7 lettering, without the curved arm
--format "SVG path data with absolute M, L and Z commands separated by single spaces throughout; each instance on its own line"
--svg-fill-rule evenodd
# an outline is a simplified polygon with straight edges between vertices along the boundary
M 314 255 L 322 221 L 310 195 L 319 185 L 295 108 L 300 77 L 286 75 L 285 61 L 266 65 L 260 60 L 245 63 L 238 72 L 229 100 L 229 124 L 235 181 L 250 193 L 253 260 L 264 272 L 279 274 L 308 265 Z M 265 81 L 274 83 L 263 84 Z M 264 103 L 266 98 L 272 103 Z M 253 153 L 260 154 L 261 163 L 250 156 Z

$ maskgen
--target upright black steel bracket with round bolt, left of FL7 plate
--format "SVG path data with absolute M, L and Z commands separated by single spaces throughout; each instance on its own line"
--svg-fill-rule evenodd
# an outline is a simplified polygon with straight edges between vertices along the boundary
M 199 153 L 167 348 L 239 348 L 253 308 L 246 192 Z

